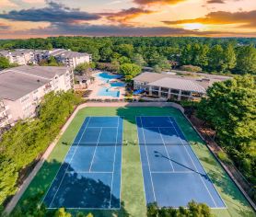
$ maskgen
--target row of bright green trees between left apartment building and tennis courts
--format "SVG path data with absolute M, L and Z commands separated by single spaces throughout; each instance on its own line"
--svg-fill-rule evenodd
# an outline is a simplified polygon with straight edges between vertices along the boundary
M 37 118 L 19 121 L 2 135 L 0 205 L 16 192 L 18 172 L 29 166 L 52 143 L 79 102 L 80 99 L 71 91 L 51 92 L 44 96 Z

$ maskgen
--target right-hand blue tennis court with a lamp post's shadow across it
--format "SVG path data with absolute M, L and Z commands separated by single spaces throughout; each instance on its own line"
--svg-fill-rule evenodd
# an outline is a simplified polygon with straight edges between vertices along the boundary
M 147 203 L 177 208 L 195 200 L 226 208 L 174 119 L 136 117 L 136 122 Z

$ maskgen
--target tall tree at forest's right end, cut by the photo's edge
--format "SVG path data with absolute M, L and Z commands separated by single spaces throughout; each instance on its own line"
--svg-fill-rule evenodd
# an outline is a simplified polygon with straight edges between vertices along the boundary
M 256 49 L 254 47 L 238 48 L 236 71 L 238 74 L 256 74 Z

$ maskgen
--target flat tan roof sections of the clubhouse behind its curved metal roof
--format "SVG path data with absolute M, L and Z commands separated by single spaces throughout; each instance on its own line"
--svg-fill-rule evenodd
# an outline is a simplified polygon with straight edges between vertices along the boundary
M 145 83 L 153 83 L 162 78 L 179 78 L 182 81 L 192 81 L 193 83 L 204 87 L 207 89 L 209 86 L 212 86 L 215 82 L 225 81 L 231 77 L 216 75 L 216 74 L 157 74 L 157 73 L 143 73 L 134 77 L 134 81 L 140 81 Z

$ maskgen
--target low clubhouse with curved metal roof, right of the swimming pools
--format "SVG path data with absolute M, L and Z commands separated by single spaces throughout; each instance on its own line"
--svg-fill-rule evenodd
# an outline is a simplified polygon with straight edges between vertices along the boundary
M 143 73 L 134 77 L 134 89 L 145 92 L 149 97 L 163 97 L 175 100 L 199 100 L 206 95 L 206 89 L 215 82 L 230 79 L 214 74 L 157 74 Z M 141 90 L 141 91 L 140 91 Z M 136 93 L 136 91 L 135 91 Z

